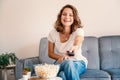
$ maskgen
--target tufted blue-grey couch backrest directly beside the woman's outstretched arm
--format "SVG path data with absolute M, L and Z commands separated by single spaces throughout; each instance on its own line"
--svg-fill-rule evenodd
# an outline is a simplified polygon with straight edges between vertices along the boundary
M 86 36 L 82 45 L 82 54 L 88 60 L 88 69 L 99 69 L 98 38 Z

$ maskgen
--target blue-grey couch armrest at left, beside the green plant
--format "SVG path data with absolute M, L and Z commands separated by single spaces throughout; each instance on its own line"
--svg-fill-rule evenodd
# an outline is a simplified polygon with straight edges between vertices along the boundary
M 17 60 L 15 68 L 16 80 L 22 78 L 22 71 L 26 66 L 29 66 L 31 69 L 31 73 L 34 74 L 35 64 L 40 64 L 39 57 L 31 57 Z

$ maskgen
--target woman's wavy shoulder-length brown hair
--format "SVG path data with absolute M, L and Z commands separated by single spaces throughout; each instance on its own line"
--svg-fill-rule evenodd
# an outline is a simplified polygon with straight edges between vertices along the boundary
M 70 32 L 70 33 L 76 31 L 77 28 L 82 28 L 83 26 L 81 25 L 81 20 L 80 20 L 80 18 L 79 18 L 79 16 L 78 16 L 78 11 L 77 11 L 77 9 L 76 9 L 74 6 L 72 6 L 72 5 L 70 5 L 70 4 L 67 4 L 67 5 L 63 6 L 63 8 L 60 10 L 60 12 L 59 12 L 59 14 L 58 14 L 58 16 L 57 16 L 57 20 L 56 20 L 55 25 L 54 25 L 55 29 L 56 29 L 58 32 L 61 32 L 61 33 L 63 33 L 63 31 L 64 31 L 64 26 L 63 26 L 63 24 L 61 23 L 61 15 L 62 15 L 62 12 L 63 12 L 63 10 L 64 10 L 65 8 L 70 8 L 70 9 L 72 9 L 72 11 L 73 11 L 74 22 L 73 22 L 73 24 L 71 25 L 71 32 Z

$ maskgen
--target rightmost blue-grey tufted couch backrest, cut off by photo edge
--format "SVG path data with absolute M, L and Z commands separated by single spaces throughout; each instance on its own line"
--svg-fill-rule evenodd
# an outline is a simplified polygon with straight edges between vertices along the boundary
M 120 68 L 120 36 L 99 38 L 102 69 Z

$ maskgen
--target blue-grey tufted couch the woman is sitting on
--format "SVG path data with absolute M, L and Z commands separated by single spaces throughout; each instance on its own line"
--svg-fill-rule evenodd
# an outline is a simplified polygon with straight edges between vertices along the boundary
M 54 63 L 47 53 L 47 38 L 40 40 L 39 57 L 20 59 L 16 64 L 16 80 L 22 77 L 22 70 L 30 66 L 34 75 L 35 64 Z M 85 36 L 83 55 L 88 59 L 87 71 L 80 80 L 120 80 L 120 36 Z

